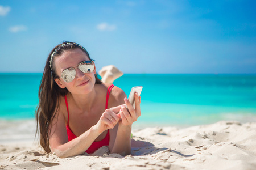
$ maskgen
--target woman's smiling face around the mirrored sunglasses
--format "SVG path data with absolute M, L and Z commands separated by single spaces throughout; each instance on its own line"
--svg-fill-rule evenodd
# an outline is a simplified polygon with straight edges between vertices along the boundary
M 56 56 L 55 68 L 59 78 L 56 78 L 55 81 L 60 88 L 66 87 L 72 94 L 88 94 L 92 91 L 96 80 L 94 76 L 96 68 L 94 67 L 92 73 L 82 73 L 77 67 L 79 63 L 86 60 L 89 60 L 88 56 L 79 48 L 67 50 L 61 56 Z M 67 83 L 61 78 L 61 73 L 71 67 L 75 68 L 76 76 L 72 82 Z

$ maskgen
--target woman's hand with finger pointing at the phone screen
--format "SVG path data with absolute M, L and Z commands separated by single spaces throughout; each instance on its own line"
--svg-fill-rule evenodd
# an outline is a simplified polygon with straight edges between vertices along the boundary
M 102 113 L 100 120 L 95 125 L 95 128 L 99 133 L 104 132 L 105 130 L 114 128 L 115 125 L 119 122 L 120 118 L 117 116 L 117 112 L 121 109 L 122 105 L 117 107 L 106 109 Z

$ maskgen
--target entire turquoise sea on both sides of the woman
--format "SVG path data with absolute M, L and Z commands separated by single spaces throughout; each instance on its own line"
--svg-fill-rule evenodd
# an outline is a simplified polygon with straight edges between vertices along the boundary
M 13 139 L 22 129 L 28 134 L 35 129 L 41 78 L 40 73 L 0 73 L 0 142 L 15 128 Z M 127 96 L 131 87 L 143 86 L 137 128 L 256 122 L 256 74 L 125 74 L 114 84 Z

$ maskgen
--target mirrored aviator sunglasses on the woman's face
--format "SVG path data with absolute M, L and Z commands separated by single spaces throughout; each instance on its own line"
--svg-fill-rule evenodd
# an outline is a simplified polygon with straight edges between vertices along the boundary
M 69 82 L 72 82 L 73 79 L 75 79 L 75 76 L 76 76 L 75 67 L 71 67 L 62 71 L 61 78 L 65 82 L 69 83 Z M 77 67 L 80 71 L 82 71 L 82 73 L 92 73 L 94 71 L 94 63 L 90 60 L 81 62 L 79 65 L 77 65 Z

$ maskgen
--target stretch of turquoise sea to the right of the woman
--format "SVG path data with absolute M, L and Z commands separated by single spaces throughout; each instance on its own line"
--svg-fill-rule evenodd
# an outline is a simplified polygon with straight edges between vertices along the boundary
M 255 74 L 138 74 L 114 84 L 143 86 L 141 125 L 191 126 L 256 121 Z

